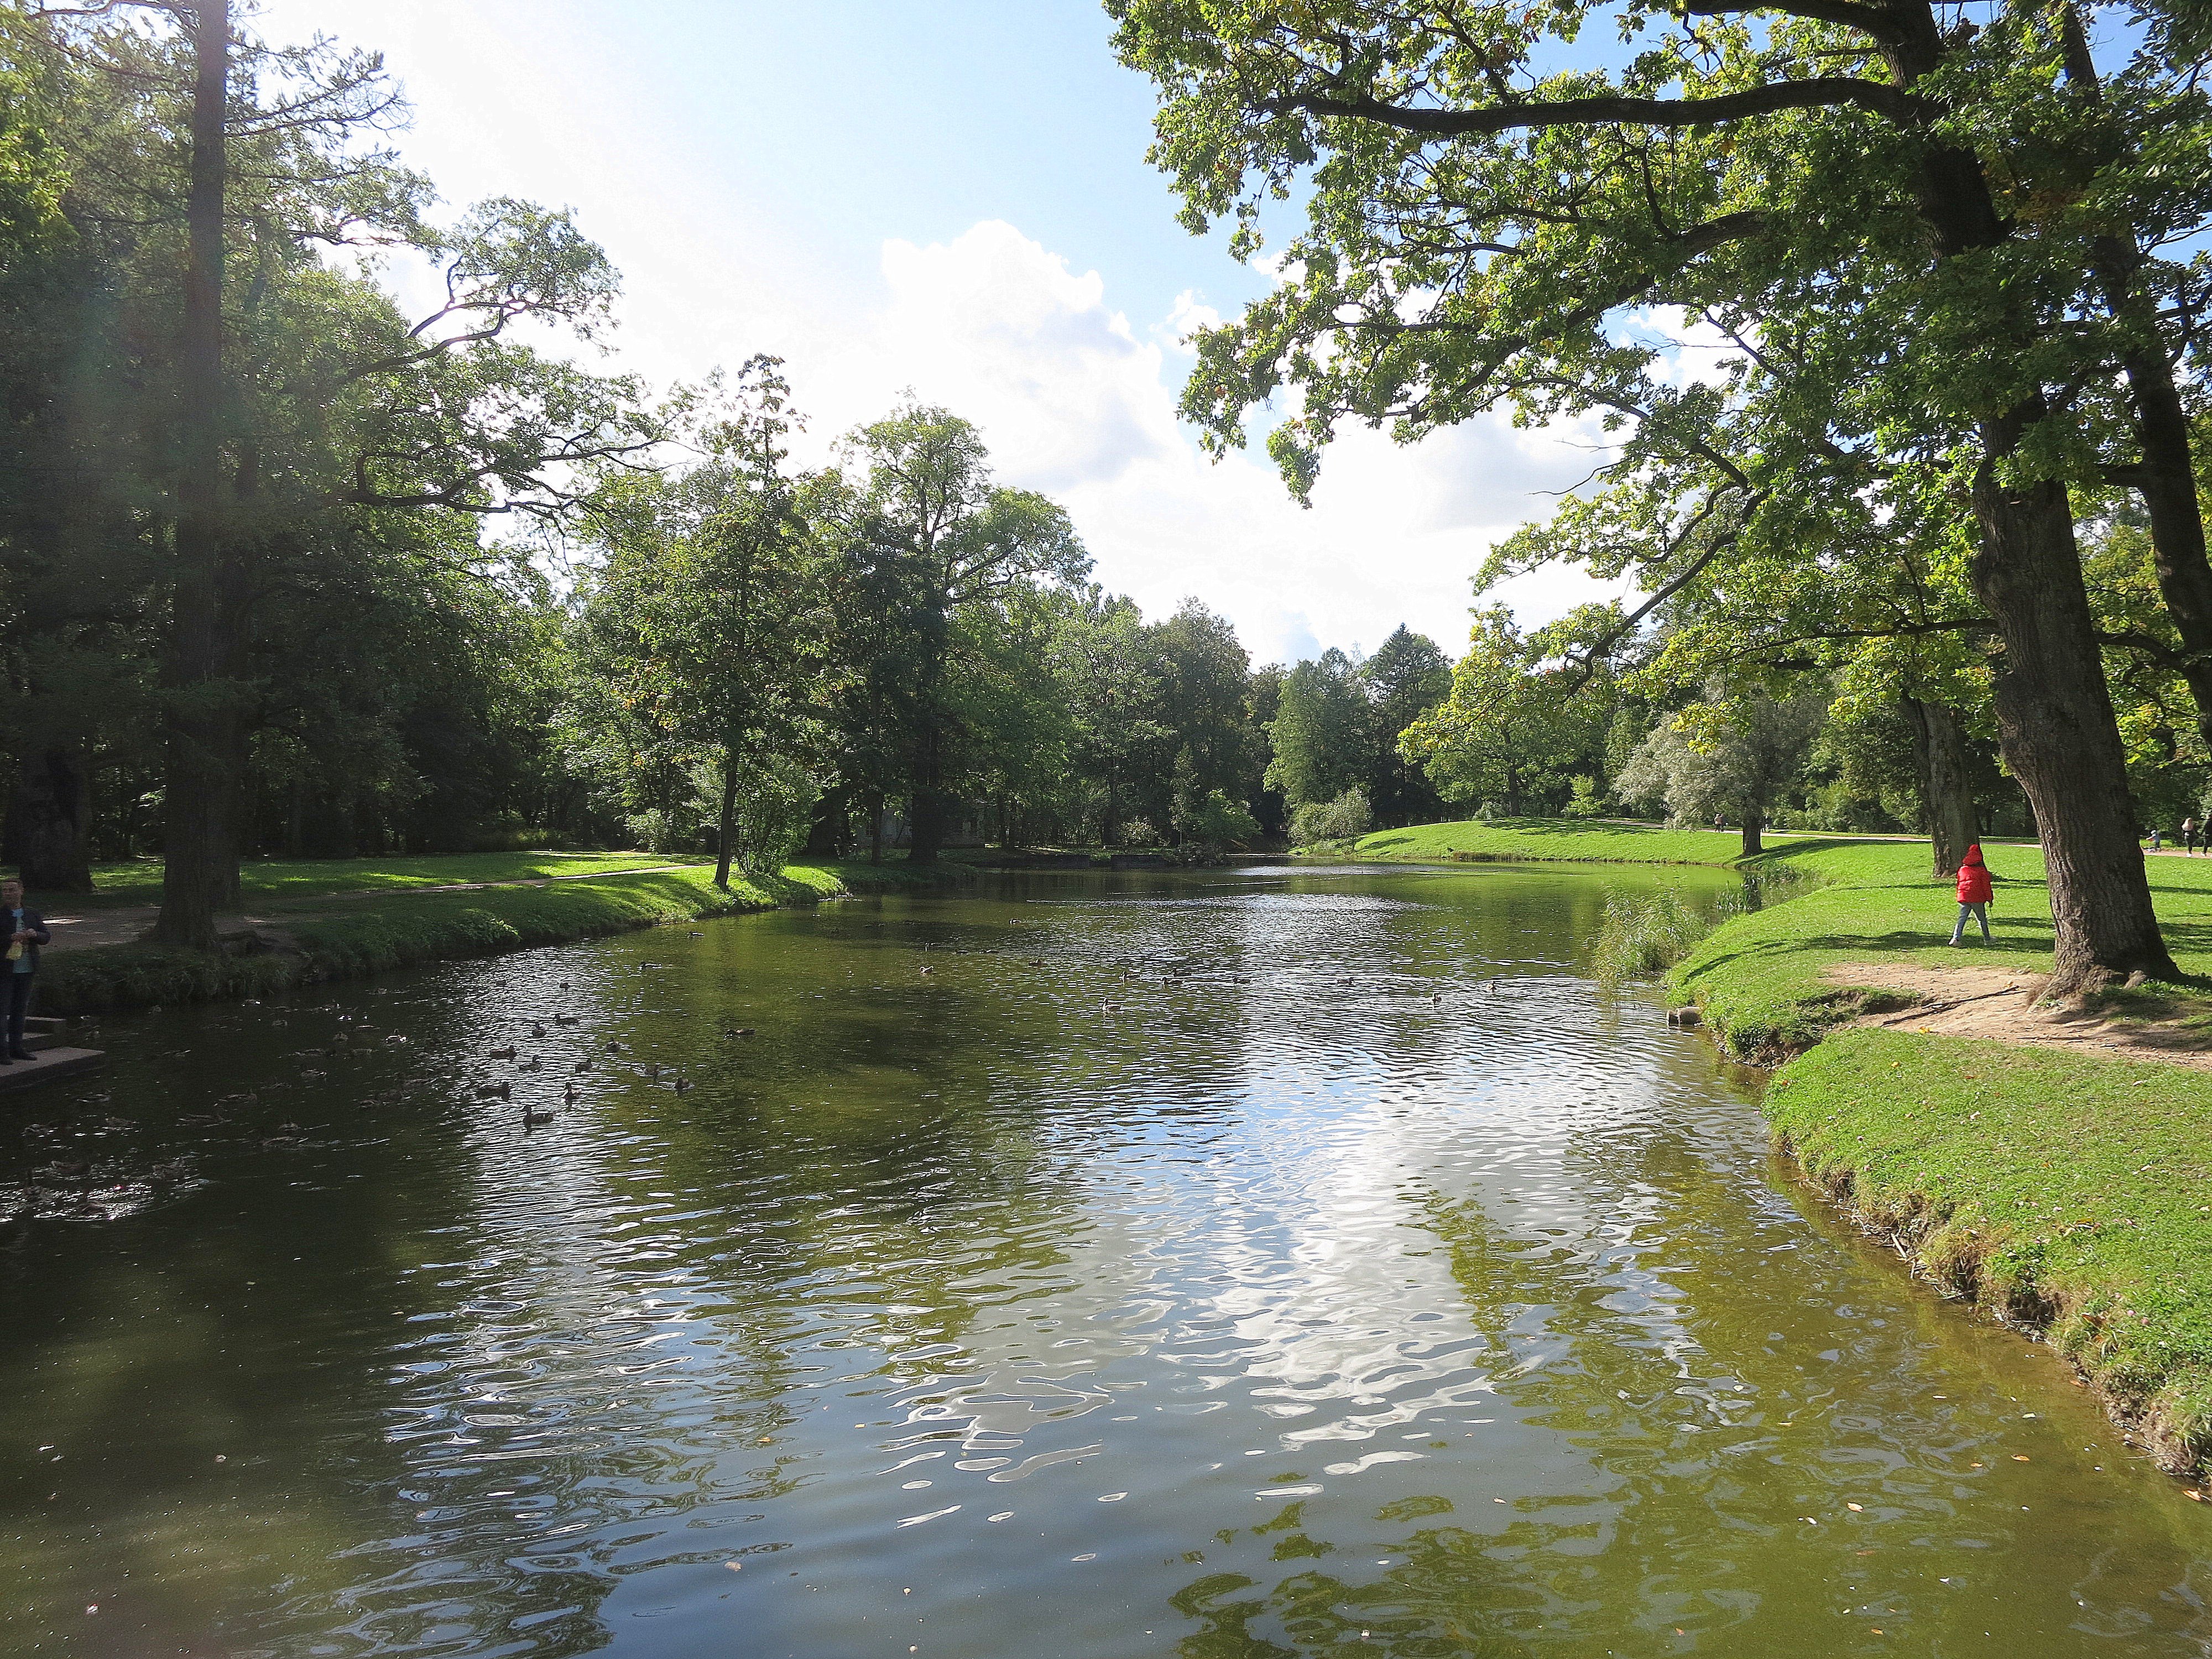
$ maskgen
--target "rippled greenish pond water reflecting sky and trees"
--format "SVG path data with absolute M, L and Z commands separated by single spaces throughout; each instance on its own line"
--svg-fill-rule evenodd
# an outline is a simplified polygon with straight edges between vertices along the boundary
M 108 1022 L 0 1104 L 0 1652 L 2212 1650 L 2212 1515 L 1579 978 L 1657 885 L 998 878 Z

